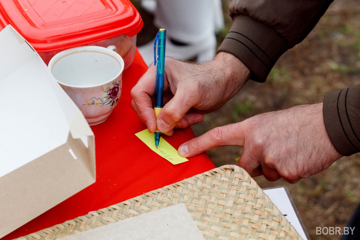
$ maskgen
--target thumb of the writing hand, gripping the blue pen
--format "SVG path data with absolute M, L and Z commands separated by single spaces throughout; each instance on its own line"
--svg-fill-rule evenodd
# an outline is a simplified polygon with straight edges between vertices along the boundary
M 159 116 L 157 118 L 157 128 L 161 132 L 168 132 L 175 125 L 180 122 L 185 114 L 190 110 L 190 108 L 195 105 L 191 102 L 192 99 L 189 99 L 186 96 L 184 91 L 175 92 L 174 97 L 165 104 L 163 109 L 161 109 Z

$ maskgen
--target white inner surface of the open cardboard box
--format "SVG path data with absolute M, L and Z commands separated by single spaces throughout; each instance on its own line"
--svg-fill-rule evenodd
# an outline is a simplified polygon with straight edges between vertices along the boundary
M 0 177 L 73 138 L 88 145 L 89 124 L 35 50 L 10 25 L 0 32 Z

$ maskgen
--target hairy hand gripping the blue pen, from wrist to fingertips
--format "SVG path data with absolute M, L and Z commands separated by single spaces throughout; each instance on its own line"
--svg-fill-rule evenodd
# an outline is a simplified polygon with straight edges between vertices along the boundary
M 172 135 L 173 128 L 186 128 L 202 122 L 204 113 L 224 105 L 247 81 L 249 70 L 238 58 L 220 52 L 205 64 L 166 57 L 163 109 L 156 119 L 156 67 L 148 71 L 131 90 L 131 106 L 149 132 L 157 128 Z M 190 110 L 191 109 L 191 110 Z

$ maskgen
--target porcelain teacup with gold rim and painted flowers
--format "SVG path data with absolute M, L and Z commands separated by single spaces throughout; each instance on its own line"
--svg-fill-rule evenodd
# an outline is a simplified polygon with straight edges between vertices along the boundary
M 53 56 L 48 65 L 90 126 L 105 122 L 121 95 L 124 61 L 115 49 L 73 47 Z

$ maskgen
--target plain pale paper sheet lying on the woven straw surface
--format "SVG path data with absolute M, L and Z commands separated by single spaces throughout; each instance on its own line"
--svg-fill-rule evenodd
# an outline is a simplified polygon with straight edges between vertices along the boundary
M 63 237 L 62 240 L 204 240 L 183 203 Z

